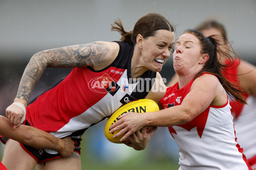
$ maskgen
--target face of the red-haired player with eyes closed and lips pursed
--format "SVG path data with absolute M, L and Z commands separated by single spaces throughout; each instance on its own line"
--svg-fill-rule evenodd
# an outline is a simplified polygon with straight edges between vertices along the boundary
M 200 71 L 205 62 L 199 39 L 190 33 L 182 34 L 175 44 L 173 67 L 177 74 L 190 74 Z

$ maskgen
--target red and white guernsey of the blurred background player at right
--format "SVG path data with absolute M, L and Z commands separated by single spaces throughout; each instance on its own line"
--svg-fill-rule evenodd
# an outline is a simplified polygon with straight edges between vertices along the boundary
M 226 64 L 229 64 L 229 59 Z M 235 83 L 239 83 L 238 67 L 239 59 L 236 59 L 230 67 L 223 72 L 224 76 Z M 256 97 L 244 94 L 248 105 L 243 105 L 230 99 L 231 113 L 234 117 L 234 127 L 236 130 L 237 142 L 244 149 L 246 156 L 252 168 L 256 168 Z

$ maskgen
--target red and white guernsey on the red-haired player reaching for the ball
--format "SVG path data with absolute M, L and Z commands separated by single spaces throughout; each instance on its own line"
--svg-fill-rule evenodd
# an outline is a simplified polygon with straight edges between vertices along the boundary
M 163 108 L 180 105 L 192 83 L 167 88 L 160 100 Z M 179 170 L 251 170 L 236 142 L 230 108 L 228 100 L 222 106 L 209 105 L 192 121 L 169 127 L 179 148 Z

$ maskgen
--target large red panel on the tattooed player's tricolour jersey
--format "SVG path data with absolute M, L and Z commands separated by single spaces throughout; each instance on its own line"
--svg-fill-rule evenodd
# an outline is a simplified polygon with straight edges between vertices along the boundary
M 99 82 L 103 77 L 105 80 L 108 77 L 107 83 L 117 82 L 122 74 L 110 74 L 110 77 L 108 73 L 113 70 L 119 71 L 117 73 L 124 71 L 113 67 L 101 72 L 93 72 L 86 67 L 74 68 L 59 85 L 39 96 L 27 107 L 29 123 L 48 132 L 59 130 L 71 118 L 84 113 L 106 94 L 114 91 L 113 88 L 112 91 L 107 91 L 102 82 Z

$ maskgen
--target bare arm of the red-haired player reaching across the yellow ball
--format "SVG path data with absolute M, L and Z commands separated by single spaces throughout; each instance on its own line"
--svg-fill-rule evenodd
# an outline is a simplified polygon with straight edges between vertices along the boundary
M 190 122 L 207 109 L 209 105 L 224 105 L 226 102 L 227 94 L 217 77 L 205 74 L 195 79 L 190 92 L 183 99 L 181 105 L 143 114 L 134 112 L 122 114 L 118 117 L 119 120 L 110 126 L 109 133 L 120 130 L 113 138 L 125 134 L 120 139 L 120 141 L 123 141 L 144 126 L 169 127 L 181 125 Z

